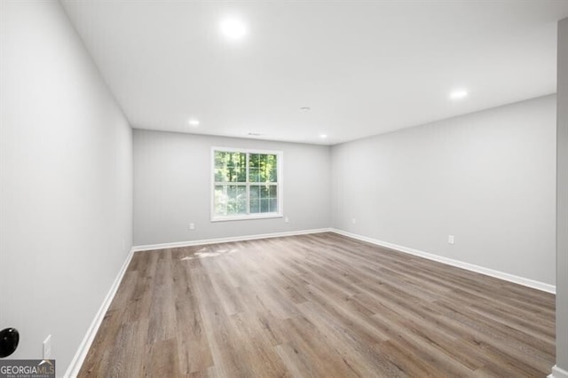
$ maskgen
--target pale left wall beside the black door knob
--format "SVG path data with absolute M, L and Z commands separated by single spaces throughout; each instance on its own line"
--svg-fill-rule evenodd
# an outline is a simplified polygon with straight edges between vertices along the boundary
M 131 130 L 59 2 L 0 3 L 0 328 L 64 374 L 131 244 Z

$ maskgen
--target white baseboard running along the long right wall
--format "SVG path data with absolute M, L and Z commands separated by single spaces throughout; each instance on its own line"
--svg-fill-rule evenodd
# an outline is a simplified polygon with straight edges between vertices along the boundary
M 471 272 L 477 272 L 477 273 L 485 274 L 486 276 L 491 276 L 491 277 L 495 277 L 497 279 L 506 280 L 506 281 L 513 282 L 513 283 L 516 283 L 516 284 L 519 284 L 519 285 L 523 285 L 525 287 L 533 287 L 533 288 L 536 288 L 537 290 L 540 290 L 540 291 L 545 291 L 547 293 L 556 294 L 556 286 L 550 285 L 550 284 L 547 284 L 547 283 L 544 283 L 544 282 L 526 279 L 524 277 L 519 277 L 519 276 L 516 276 L 514 274 L 509 274 L 509 273 L 505 273 L 505 272 L 494 271 L 493 269 L 484 268 L 483 266 L 464 263 L 464 262 L 461 262 L 459 260 L 454 260 L 452 258 L 434 255 L 434 254 L 424 252 L 424 251 L 421 251 L 421 250 L 418 250 L 418 249 L 399 246 L 398 244 L 393 244 L 393 243 L 389 243 L 389 242 L 383 241 L 383 240 L 376 240 L 376 239 L 373 239 L 373 238 L 368 238 L 367 236 L 362 236 L 362 235 L 358 235 L 356 233 L 351 233 L 351 232 L 345 232 L 343 230 L 338 230 L 338 229 L 335 229 L 335 228 L 332 228 L 331 232 L 335 232 L 335 233 L 338 233 L 338 234 L 343 235 L 343 236 L 348 236 L 348 237 L 353 238 L 353 239 L 367 241 L 371 244 L 375 244 L 375 245 L 380 246 L 380 247 L 394 249 L 396 251 L 404 252 L 404 253 L 414 255 L 414 256 L 424 257 L 424 258 L 427 258 L 429 260 L 437 261 L 438 263 L 448 264 L 448 265 L 456 266 L 458 268 L 465 269 L 465 270 L 468 270 L 468 271 L 471 271 Z M 555 377 L 556 377 L 556 375 L 555 375 Z M 566 377 L 566 378 L 568 378 L 568 377 Z

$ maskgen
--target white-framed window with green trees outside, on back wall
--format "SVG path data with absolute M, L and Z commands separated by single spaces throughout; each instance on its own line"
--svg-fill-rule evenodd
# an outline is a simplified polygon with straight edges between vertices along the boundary
M 281 217 L 282 153 L 217 148 L 212 220 Z

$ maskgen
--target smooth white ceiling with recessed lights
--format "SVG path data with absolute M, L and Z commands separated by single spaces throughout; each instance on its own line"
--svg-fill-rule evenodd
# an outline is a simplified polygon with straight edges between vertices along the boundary
M 556 92 L 568 17 L 547 0 L 61 3 L 132 127 L 322 145 Z

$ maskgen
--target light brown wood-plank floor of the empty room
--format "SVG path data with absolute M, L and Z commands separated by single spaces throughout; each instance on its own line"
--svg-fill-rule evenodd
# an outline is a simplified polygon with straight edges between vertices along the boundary
M 544 377 L 554 299 L 335 233 L 138 252 L 80 376 Z

